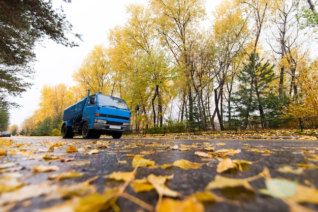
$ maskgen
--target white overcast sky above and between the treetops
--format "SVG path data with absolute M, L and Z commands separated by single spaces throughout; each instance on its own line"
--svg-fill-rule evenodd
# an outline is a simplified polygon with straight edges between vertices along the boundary
M 73 0 L 66 4 L 61 0 L 53 0 L 55 7 L 62 5 L 67 20 L 73 25 L 73 32 L 82 35 L 82 40 L 70 37 L 76 41 L 79 47 L 64 47 L 53 41 L 44 41 L 42 46 L 35 49 L 37 72 L 35 79 L 31 80 L 34 85 L 21 98 L 13 101 L 22 107 L 10 110 L 10 124 L 17 124 L 32 116 L 39 108 L 41 102 L 41 89 L 43 85 L 75 85 L 72 74 L 81 66 L 83 59 L 94 48 L 95 45 L 108 42 L 109 29 L 116 25 L 122 25 L 127 18 L 126 6 L 133 3 L 147 4 L 147 0 Z M 206 12 L 208 15 L 214 6 L 221 0 L 207 0 Z

